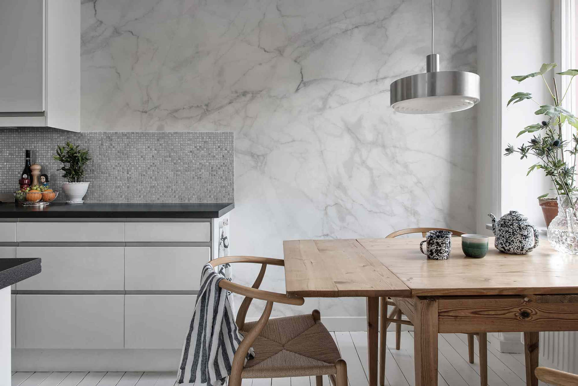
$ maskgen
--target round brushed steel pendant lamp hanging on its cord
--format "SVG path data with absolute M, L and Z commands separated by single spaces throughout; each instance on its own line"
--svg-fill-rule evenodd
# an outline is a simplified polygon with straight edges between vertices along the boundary
M 439 71 L 439 54 L 427 56 L 426 71 L 390 84 L 390 105 L 405 114 L 451 113 L 480 101 L 480 76 L 466 71 Z

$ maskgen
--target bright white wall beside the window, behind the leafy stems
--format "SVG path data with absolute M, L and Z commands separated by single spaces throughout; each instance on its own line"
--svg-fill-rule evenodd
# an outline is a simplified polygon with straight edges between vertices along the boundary
M 517 0 L 502 0 L 502 150 L 507 144 L 518 147 L 529 141 L 531 134 L 516 138 L 517 133 L 525 126 L 544 119 L 544 116 L 534 115 L 538 106 L 532 101 L 506 108 L 512 94 L 525 91 L 532 93 L 540 105 L 552 102 L 542 78 L 527 79 L 520 84 L 510 79 L 512 75 L 538 71 L 542 63 L 554 61 L 552 9 L 550 0 L 528 0 L 523 6 Z M 553 72 L 549 75 L 550 79 L 547 80 L 551 82 Z M 544 177 L 543 171 L 534 171 L 526 177 L 528 167 L 536 162 L 538 160 L 531 156 L 520 160 L 514 155 L 501 155 L 501 215 L 517 210 L 528 216 L 534 225 L 545 225 L 536 197 L 551 192 L 551 182 Z

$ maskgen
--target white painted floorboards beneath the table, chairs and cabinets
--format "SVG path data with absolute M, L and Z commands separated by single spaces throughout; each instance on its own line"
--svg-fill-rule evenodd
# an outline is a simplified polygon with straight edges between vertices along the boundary
M 347 361 L 350 386 L 368 384 L 367 335 L 361 331 L 331 333 Z M 439 386 L 479 386 L 479 356 L 468 362 L 465 334 L 439 334 Z M 387 333 L 386 385 L 414 386 L 413 333 L 402 332 L 401 350 L 395 333 Z M 329 385 L 329 378 L 323 377 Z M 15 372 L 12 386 L 175 386 L 176 372 Z M 315 377 L 247 379 L 243 386 L 315 386 Z M 547 386 L 540 383 L 541 386 Z M 499 352 L 488 341 L 488 386 L 525 386 L 524 354 Z

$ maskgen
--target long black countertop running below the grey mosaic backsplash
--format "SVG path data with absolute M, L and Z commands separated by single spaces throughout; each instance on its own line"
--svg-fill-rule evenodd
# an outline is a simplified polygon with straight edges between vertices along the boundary
M 234 203 L 51 203 L 46 207 L 0 204 L 1 218 L 220 218 Z

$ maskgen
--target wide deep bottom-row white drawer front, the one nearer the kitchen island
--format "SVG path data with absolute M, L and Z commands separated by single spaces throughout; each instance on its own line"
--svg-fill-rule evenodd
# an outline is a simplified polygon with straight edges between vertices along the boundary
M 16 348 L 123 348 L 123 295 L 16 295 Z

